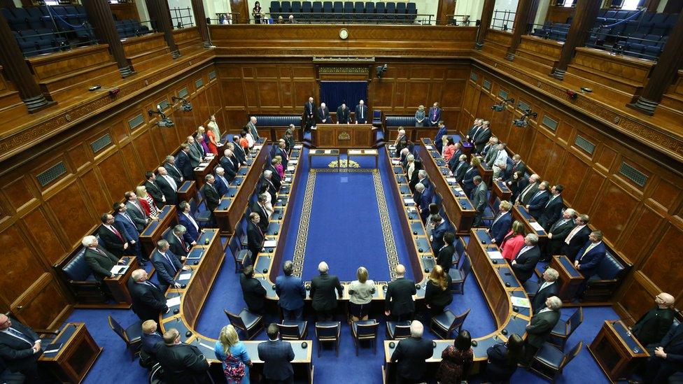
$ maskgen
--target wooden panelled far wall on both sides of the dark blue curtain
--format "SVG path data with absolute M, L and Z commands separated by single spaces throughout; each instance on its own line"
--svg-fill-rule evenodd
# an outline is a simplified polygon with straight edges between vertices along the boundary
M 379 64 L 369 66 L 372 80 L 368 82 L 365 103 L 370 109 L 381 109 L 386 115 L 414 115 L 418 105 L 428 108 L 439 101 L 446 112 L 446 125 L 456 125 L 465 81 L 470 74 L 468 62 L 453 59 L 434 60 L 428 64 L 378 58 L 376 63 L 388 64 L 388 70 L 378 79 L 374 76 L 374 65 Z M 316 65 L 334 66 L 314 64 L 311 59 L 291 62 L 262 59 L 258 63 L 218 59 L 216 66 L 227 126 L 239 129 L 246 124 L 249 114 L 301 114 L 304 103 L 311 96 L 320 102 L 318 79 L 331 79 L 318 78 Z M 349 107 L 353 111 L 355 104 Z

